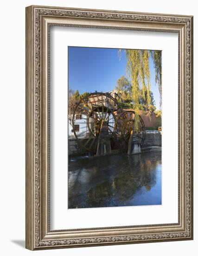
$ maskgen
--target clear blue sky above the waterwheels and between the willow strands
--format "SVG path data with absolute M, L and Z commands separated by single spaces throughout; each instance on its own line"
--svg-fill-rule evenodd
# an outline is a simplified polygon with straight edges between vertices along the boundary
M 118 49 L 68 47 L 69 88 L 84 92 L 109 92 L 115 88 L 117 80 L 126 76 L 126 57 Z M 153 92 L 155 106 L 160 108 L 160 94 L 155 84 L 155 71 L 153 61 L 149 60 L 151 91 Z

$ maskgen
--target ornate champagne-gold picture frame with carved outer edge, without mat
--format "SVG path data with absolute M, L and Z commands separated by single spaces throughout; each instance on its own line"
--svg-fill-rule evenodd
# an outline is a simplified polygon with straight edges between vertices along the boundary
M 178 223 L 50 229 L 49 54 L 51 26 L 178 33 Z M 26 7 L 26 248 L 149 243 L 193 239 L 193 17 L 64 7 Z

